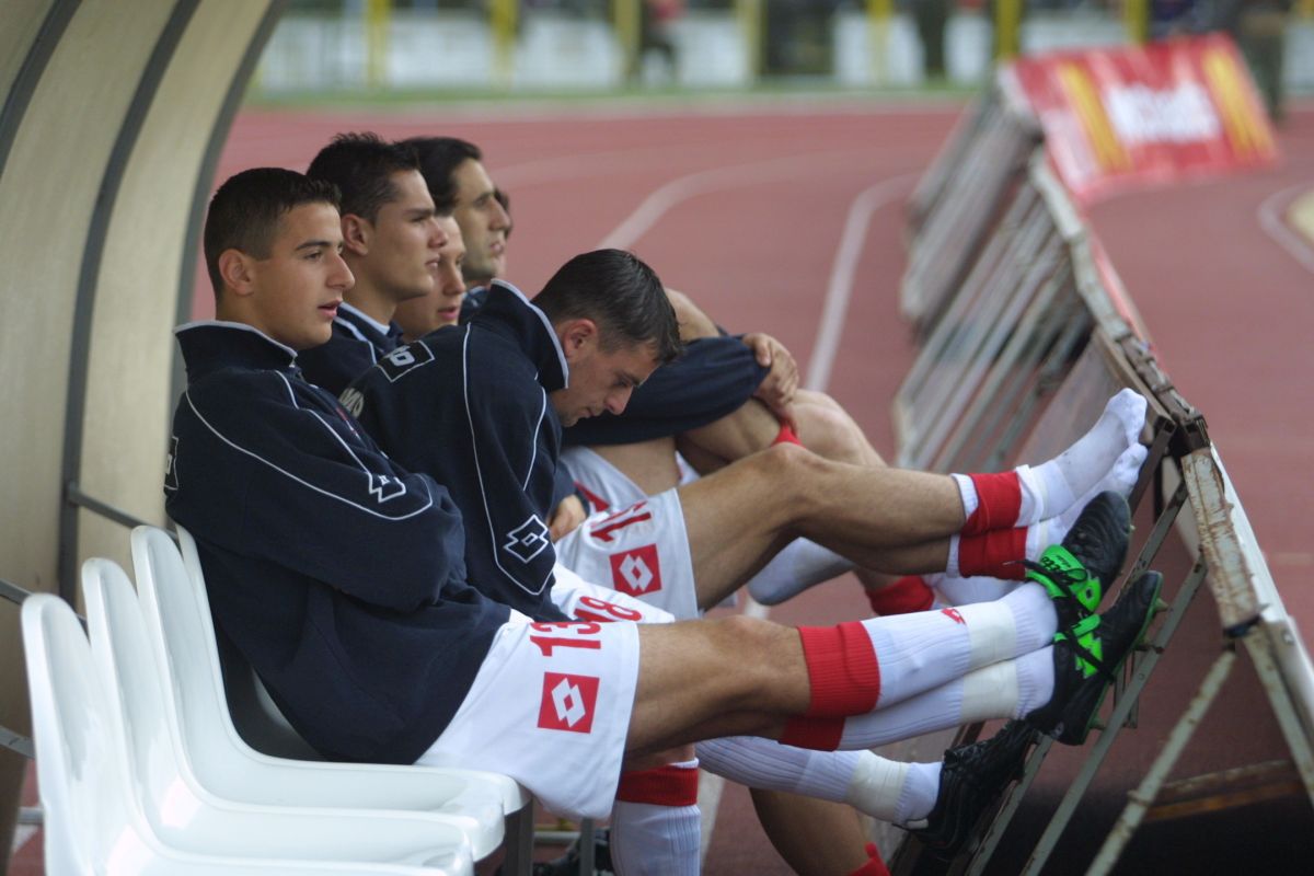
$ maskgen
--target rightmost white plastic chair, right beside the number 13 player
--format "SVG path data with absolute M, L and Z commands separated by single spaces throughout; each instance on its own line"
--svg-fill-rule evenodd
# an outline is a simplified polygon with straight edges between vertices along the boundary
M 156 665 L 201 785 L 251 802 L 464 813 L 477 818 L 484 831 L 472 834 L 476 859 L 502 841 L 503 816 L 530 822 L 520 810 L 532 799 L 509 776 L 445 767 L 289 760 L 251 749 L 229 713 L 196 542 L 181 528 L 179 542 L 181 554 L 163 529 L 138 527 L 133 531 L 133 566 Z M 511 846 L 509 856 L 519 856 Z

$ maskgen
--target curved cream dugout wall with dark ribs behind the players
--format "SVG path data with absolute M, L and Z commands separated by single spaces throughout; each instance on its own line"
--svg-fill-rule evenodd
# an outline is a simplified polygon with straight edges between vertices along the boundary
M 284 0 L 0 0 L 0 578 L 126 559 L 93 499 L 163 520 L 172 327 L 218 151 Z M 63 586 L 60 586 L 63 582 Z M 0 725 L 28 733 L 0 603 Z M 26 762 L 0 749 L 0 864 Z

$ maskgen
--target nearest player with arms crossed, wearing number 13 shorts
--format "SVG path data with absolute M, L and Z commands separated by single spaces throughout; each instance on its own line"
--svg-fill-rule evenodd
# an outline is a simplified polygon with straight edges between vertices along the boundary
M 1018 658 L 1045 691 L 1028 720 L 1084 738 L 1108 672 L 1152 613 L 1155 575 L 1102 616 L 1080 591 L 1051 600 L 1028 584 L 951 613 L 809 630 L 745 617 L 528 623 L 481 596 L 443 487 L 399 469 L 298 377 L 296 352 L 328 338 L 352 282 L 340 247 L 332 188 L 300 173 L 247 171 L 214 196 L 205 250 L 218 320 L 177 332 L 188 389 L 166 481 L 219 626 L 326 755 L 497 770 L 555 812 L 602 816 L 623 762 L 732 734 L 805 742 L 817 724 L 848 730 Z M 909 523 L 911 536 L 964 525 L 959 490 L 942 481 L 929 491 L 949 507 Z M 1047 511 L 1034 504 L 1031 516 Z M 858 516 L 846 521 L 854 540 Z

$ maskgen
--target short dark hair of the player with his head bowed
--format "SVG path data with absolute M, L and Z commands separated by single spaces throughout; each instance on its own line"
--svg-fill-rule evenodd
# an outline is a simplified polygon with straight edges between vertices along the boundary
M 594 320 L 607 349 L 653 344 L 661 364 L 683 349 L 675 311 L 661 280 L 624 250 L 594 250 L 576 256 L 552 274 L 533 303 L 552 324 Z

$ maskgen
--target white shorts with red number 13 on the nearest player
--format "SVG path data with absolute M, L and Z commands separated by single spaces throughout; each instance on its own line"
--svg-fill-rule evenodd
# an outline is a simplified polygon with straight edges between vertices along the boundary
M 417 764 L 509 775 L 551 812 L 611 812 L 639 680 L 635 624 L 512 613 L 456 716 Z

